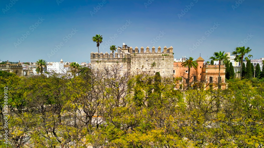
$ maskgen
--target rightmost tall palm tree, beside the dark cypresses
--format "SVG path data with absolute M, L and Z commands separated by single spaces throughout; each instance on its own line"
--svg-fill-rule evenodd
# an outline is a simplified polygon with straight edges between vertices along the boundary
M 244 57 L 246 60 L 249 60 L 249 58 L 253 57 L 253 55 L 250 55 L 250 54 L 246 56 L 246 54 L 251 52 L 251 50 L 252 49 L 250 49 L 249 47 L 245 49 L 245 46 L 244 46 L 244 47 L 237 47 L 235 48 L 235 51 L 232 52 L 232 55 L 235 55 L 234 60 L 240 62 L 240 78 L 242 76 L 242 64 L 243 64 Z

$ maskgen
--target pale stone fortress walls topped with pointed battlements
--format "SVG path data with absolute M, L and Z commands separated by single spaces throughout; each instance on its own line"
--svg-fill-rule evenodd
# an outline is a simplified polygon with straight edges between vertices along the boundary
M 91 66 L 93 68 L 102 68 L 103 65 L 110 66 L 114 63 L 120 63 L 123 66 L 123 72 L 127 71 L 131 75 L 147 73 L 154 75 L 159 72 L 161 76 L 173 76 L 173 47 L 166 46 L 161 50 L 155 50 L 149 47 L 144 50 L 143 47 L 127 47 L 123 44 L 122 49 L 118 47 L 115 54 L 107 52 L 103 54 L 91 53 Z

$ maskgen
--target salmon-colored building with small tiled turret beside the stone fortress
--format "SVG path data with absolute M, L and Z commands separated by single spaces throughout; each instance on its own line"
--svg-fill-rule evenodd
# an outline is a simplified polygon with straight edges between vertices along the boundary
M 204 64 L 204 59 L 199 57 L 197 60 L 197 68 L 183 67 L 184 62 L 174 62 L 173 76 L 176 79 L 176 89 L 186 89 L 186 81 L 188 73 L 190 73 L 190 87 L 199 89 L 218 89 L 219 65 Z M 225 65 L 220 65 L 220 86 L 221 89 L 226 88 L 225 83 Z

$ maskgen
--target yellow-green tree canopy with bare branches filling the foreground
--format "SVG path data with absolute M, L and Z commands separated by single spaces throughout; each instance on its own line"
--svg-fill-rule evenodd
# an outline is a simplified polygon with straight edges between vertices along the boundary
M 1 103 L 4 86 L 9 88 L 9 146 L 253 148 L 264 144 L 261 81 L 253 87 L 249 80 L 232 79 L 226 90 L 182 93 L 173 88 L 178 79 L 108 70 L 74 78 L 0 75 Z M 7 146 L 3 142 L 0 138 L 0 147 Z

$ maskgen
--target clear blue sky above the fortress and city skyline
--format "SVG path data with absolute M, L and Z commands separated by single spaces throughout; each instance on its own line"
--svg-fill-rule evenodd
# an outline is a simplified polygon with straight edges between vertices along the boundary
M 243 45 L 252 49 L 254 59 L 264 57 L 262 0 L 11 1 L 0 1 L 0 59 L 4 61 L 45 59 L 47 62 L 59 62 L 63 59 L 90 62 L 90 53 L 98 51 L 96 43 L 91 40 L 96 34 L 103 36 L 99 47 L 103 53 L 110 52 L 110 45 L 126 43 L 133 48 L 149 45 L 152 48 L 155 43 L 156 50 L 158 46 L 172 46 L 175 58 L 186 56 L 196 59 L 201 53 L 201 57 L 207 60 L 213 52 L 232 52 L 235 47 Z M 62 2 L 58 4 L 58 1 Z M 232 7 L 236 2 L 237 6 L 241 4 Z M 94 10 L 94 7 L 99 10 Z M 185 14 L 182 13 L 184 9 Z M 179 18 L 178 14 L 182 16 Z M 217 27 L 214 23 L 220 25 Z M 208 33 L 210 29 L 213 32 Z M 162 36 L 160 32 L 165 34 Z M 69 35 L 68 39 L 64 38 L 66 35 Z M 110 37 L 114 37 L 114 41 L 103 49 Z M 20 42 L 18 38 L 25 39 Z M 202 40 L 202 43 L 197 43 L 200 45 L 190 52 L 197 40 Z M 247 43 L 241 43 L 243 40 Z M 60 43 L 63 46 L 52 55 L 51 49 Z

